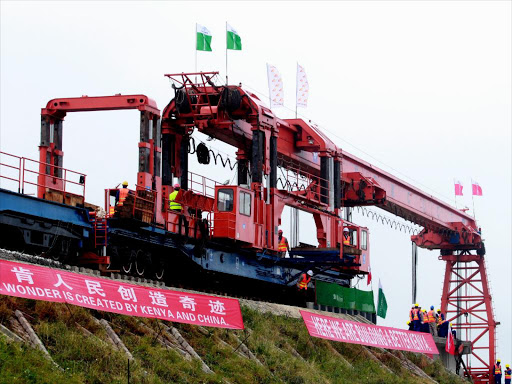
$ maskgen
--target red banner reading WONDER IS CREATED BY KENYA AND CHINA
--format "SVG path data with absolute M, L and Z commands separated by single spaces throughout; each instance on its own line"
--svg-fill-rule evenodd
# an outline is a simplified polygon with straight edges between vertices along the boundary
M 244 328 L 236 299 L 143 287 L 6 260 L 0 260 L 0 294 L 177 323 Z

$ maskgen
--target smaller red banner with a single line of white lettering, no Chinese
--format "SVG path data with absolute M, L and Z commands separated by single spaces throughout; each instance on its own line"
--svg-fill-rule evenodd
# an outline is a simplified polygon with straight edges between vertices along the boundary
M 386 349 L 439 354 L 430 333 L 404 331 L 379 327 L 300 311 L 308 332 L 313 337 L 342 341 L 344 343 L 368 345 Z

